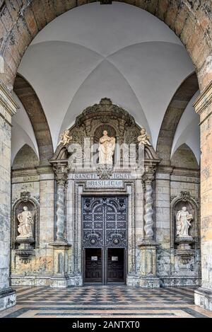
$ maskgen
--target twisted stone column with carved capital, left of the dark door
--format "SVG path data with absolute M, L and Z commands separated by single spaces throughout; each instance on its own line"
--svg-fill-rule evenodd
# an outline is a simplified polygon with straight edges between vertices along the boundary
M 56 241 L 66 242 L 64 237 L 66 219 L 65 190 L 68 178 L 68 167 L 66 164 L 58 164 L 57 166 L 54 166 L 54 173 L 57 181 Z

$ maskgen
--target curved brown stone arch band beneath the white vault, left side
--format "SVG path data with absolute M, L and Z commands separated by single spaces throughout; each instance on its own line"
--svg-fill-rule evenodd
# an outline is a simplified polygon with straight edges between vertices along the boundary
M 40 164 L 44 164 L 53 154 L 52 136 L 45 112 L 35 90 L 20 74 L 16 76 L 14 91 L 21 103 L 23 103 L 26 113 L 28 113 L 28 117 L 33 125 L 40 156 Z

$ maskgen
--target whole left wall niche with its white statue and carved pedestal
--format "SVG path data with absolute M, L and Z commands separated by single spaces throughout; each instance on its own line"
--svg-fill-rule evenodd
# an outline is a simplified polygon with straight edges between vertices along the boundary
M 29 192 L 20 193 L 13 203 L 11 246 L 23 263 L 28 263 L 39 247 L 39 202 Z

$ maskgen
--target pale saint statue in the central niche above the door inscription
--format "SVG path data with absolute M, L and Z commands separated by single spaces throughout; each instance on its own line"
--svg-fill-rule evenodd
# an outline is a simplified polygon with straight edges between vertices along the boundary
M 112 156 L 114 154 L 116 139 L 107 135 L 104 130 L 99 144 L 99 164 L 112 165 Z

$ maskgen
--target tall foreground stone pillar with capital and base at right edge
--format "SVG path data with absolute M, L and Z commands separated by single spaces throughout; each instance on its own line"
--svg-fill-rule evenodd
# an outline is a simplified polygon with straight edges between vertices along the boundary
M 212 81 L 194 103 L 201 133 L 201 287 L 195 304 L 212 310 Z

